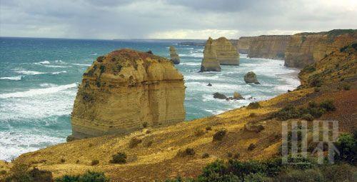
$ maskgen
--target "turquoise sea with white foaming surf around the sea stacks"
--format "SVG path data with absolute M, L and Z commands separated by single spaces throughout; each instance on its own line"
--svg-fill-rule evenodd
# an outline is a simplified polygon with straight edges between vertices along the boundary
M 185 79 L 186 120 L 211 116 L 261 101 L 300 84 L 294 69 L 283 61 L 247 59 L 240 66 L 222 66 L 221 72 L 198 73 L 202 46 L 180 46 L 178 41 L 109 41 L 82 39 L 0 38 L 0 160 L 66 141 L 71 133 L 70 113 L 81 76 L 97 56 L 115 49 L 153 51 L 169 57 L 176 46 Z M 261 85 L 246 84 L 243 75 L 254 71 Z M 213 86 L 206 86 L 211 83 Z M 246 99 L 214 99 L 214 92 Z

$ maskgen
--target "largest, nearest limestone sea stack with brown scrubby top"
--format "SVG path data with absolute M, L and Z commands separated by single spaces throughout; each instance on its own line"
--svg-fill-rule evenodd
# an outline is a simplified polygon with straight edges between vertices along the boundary
M 183 121 L 183 84 L 169 59 L 131 49 L 99 56 L 83 75 L 67 140 Z

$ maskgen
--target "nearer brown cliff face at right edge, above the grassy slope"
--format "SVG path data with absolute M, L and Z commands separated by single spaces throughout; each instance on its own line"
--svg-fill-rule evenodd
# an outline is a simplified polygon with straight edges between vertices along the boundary
M 303 68 L 356 41 L 357 30 L 295 34 L 286 47 L 285 66 Z

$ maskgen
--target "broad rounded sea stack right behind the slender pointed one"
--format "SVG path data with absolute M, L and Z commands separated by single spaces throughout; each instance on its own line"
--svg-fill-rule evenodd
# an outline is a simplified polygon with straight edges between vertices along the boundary
M 231 41 L 228 41 L 225 37 L 220 37 L 213 41 L 212 46 L 221 65 L 239 65 L 239 54 Z

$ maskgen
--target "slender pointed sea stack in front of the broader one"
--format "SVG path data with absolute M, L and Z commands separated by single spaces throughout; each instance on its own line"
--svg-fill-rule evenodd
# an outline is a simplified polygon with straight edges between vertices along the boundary
M 213 39 L 210 37 L 206 41 L 206 45 L 203 50 L 203 59 L 201 63 L 202 71 L 221 71 L 219 61 L 217 60 L 216 50 L 213 49 Z

